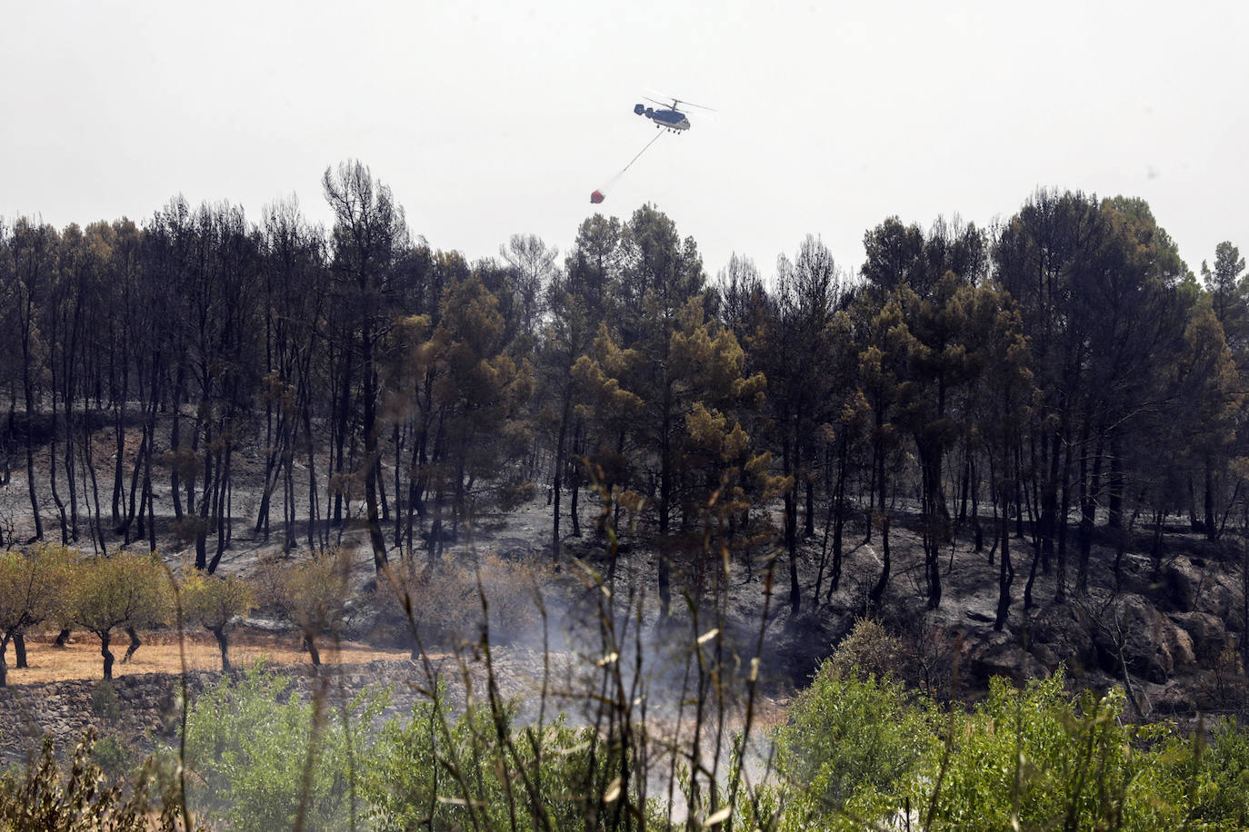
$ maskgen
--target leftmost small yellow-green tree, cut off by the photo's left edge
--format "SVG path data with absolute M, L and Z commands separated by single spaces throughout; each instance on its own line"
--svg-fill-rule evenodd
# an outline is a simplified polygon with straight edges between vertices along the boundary
M 27 627 L 61 614 L 71 558 L 61 546 L 0 554 L 0 687 L 7 685 L 5 654 L 9 641 Z

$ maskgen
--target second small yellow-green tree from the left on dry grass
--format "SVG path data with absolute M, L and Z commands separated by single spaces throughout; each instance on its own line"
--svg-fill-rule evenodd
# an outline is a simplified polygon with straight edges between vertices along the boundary
M 74 622 L 100 639 L 104 677 L 112 679 L 112 631 L 162 624 L 172 609 L 172 588 L 155 555 L 120 554 L 94 558 L 74 570 L 71 610 Z M 131 635 L 134 652 L 137 639 Z

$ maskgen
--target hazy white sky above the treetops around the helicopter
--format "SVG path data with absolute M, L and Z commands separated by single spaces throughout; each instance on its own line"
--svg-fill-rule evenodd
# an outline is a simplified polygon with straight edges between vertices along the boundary
M 256 221 L 360 158 L 470 258 L 566 252 L 654 135 L 657 89 L 716 107 L 597 210 L 643 202 L 767 276 L 816 233 L 858 268 L 889 215 L 987 223 L 1038 186 L 1148 200 L 1197 271 L 1249 251 L 1249 4 L 41 2 L 0 0 L 0 216 Z

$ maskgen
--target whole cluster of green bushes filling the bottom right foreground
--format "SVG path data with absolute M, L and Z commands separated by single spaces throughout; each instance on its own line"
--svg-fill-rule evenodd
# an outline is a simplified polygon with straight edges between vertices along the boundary
M 1122 691 L 1073 701 L 1062 674 L 995 679 L 972 712 L 939 718 L 904 697 L 822 672 L 794 701 L 777 732 L 781 828 L 1245 828 L 1249 737 L 1232 722 L 1210 745 L 1127 725 Z

